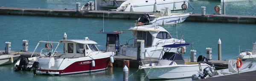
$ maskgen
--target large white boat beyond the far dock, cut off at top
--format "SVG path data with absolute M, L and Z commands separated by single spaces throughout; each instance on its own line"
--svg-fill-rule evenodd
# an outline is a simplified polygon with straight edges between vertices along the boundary
M 172 11 L 186 10 L 186 0 L 127 0 L 116 11 L 159 12 L 162 8 Z

